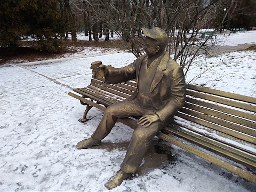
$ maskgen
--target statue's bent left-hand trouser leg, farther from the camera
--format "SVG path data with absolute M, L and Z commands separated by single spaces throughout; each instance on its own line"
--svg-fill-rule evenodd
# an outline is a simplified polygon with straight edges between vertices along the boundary
M 110 133 L 114 127 L 118 118 L 130 117 L 130 116 L 142 116 L 143 110 L 136 103 L 136 100 L 122 101 L 110 105 L 105 110 L 105 113 L 100 121 L 95 132 L 92 134 L 94 139 L 104 139 Z

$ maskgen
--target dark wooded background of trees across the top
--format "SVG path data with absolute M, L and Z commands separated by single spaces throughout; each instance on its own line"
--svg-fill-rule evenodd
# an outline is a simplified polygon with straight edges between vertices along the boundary
M 34 37 L 40 50 L 57 52 L 61 41 L 76 33 L 109 41 L 114 33 L 136 57 L 143 54 L 141 27 L 161 27 L 169 34 L 166 51 L 183 68 L 214 46 L 209 35 L 223 29 L 256 27 L 255 0 L 6 0 L 0 3 L 0 46 L 18 46 Z M 207 43 L 207 42 L 210 42 Z

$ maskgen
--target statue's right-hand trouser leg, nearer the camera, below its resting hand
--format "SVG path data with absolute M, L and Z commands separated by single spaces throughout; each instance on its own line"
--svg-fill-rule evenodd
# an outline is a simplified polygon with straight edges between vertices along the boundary
M 122 171 L 126 173 L 135 173 L 137 171 L 143 157 L 147 153 L 151 141 L 162 127 L 163 125 L 160 121 L 148 127 L 137 126 L 133 132 L 129 148 L 121 165 Z

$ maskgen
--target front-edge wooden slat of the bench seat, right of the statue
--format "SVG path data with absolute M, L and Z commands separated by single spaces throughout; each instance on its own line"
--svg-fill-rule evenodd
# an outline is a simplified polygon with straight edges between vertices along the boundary
M 165 141 L 168 141 L 168 142 L 172 143 L 173 145 L 178 146 L 186 151 L 189 151 L 190 153 L 197 155 L 198 157 L 201 157 L 201 158 L 205 159 L 206 161 L 212 162 L 215 165 L 218 165 L 230 172 L 240 175 L 241 177 L 243 177 L 251 182 L 256 183 L 256 175 L 255 174 L 252 174 L 252 173 L 245 171 L 237 166 L 234 166 L 225 161 L 222 161 L 221 159 L 219 159 L 217 157 L 206 154 L 203 151 L 196 149 L 194 147 L 191 147 L 191 146 L 187 145 L 186 143 L 183 143 L 177 139 L 174 139 L 164 133 L 158 133 L 157 137 L 159 137 L 160 139 L 163 139 Z

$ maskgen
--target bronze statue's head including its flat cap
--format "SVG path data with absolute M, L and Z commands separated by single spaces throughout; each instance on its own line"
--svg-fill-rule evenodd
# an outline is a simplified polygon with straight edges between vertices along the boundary
M 165 30 L 154 27 L 152 29 L 148 28 L 141 28 L 143 34 L 146 35 L 145 39 L 145 47 L 144 50 L 148 55 L 154 55 L 158 51 L 164 51 L 166 45 L 168 44 L 168 35 L 166 34 Z M 154 51 L 154 49 L 156 49 Z

